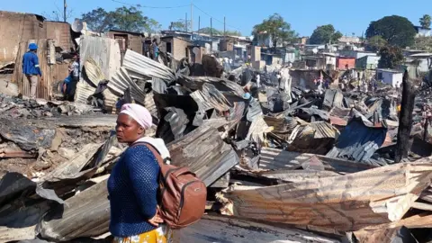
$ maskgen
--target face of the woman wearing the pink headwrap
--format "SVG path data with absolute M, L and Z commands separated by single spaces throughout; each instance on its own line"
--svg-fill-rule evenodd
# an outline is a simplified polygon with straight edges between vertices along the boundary
M 127 114 L 119 114 L 115 131 L 117 132 L 117 139 L 123 143 L 133 143 L 141 138 L 145 132 L 138 122 Z

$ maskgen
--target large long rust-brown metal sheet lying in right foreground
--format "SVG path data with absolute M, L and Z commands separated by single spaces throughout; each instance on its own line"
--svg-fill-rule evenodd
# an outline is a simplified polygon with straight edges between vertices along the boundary
M 432 163 L 403 163 L 301 183 L 234 187 L 234 214 L 353 231 L 401 220 L 430 184 Z

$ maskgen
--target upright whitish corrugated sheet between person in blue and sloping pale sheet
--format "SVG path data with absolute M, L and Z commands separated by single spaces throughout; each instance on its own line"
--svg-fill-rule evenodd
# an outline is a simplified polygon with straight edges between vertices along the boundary
M 81 74 L 85 61 L 94 59 L 106 79 L 111 80 L 121 67 L 121 53 L 119 43 L 110 38 L 84 36 L 79 46 Z

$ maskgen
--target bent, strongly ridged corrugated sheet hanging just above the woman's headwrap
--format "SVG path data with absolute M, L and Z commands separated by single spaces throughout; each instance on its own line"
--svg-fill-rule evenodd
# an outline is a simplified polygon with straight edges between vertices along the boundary
M 115 76 L 112 76 L 108 87 L 117 95 L 122 95 L 130 87 L 130 93 L 136 102 L 144 104 L 146 99 L 146 93 L 130 78 L 124 67 L 121 67 Z

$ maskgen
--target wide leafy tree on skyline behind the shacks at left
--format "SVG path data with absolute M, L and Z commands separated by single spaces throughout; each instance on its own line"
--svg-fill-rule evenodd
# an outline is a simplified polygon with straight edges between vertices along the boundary
M 82 14 L 82 20 L 87 23 L 90 30 L 96 32 L 109 31 L 110 29 L 132 32 L 158 31 L 161 25 L 156 20 L 144 16 L 139 7 L 139 5 L 121 6 L 110 12 L 99 7 Z

